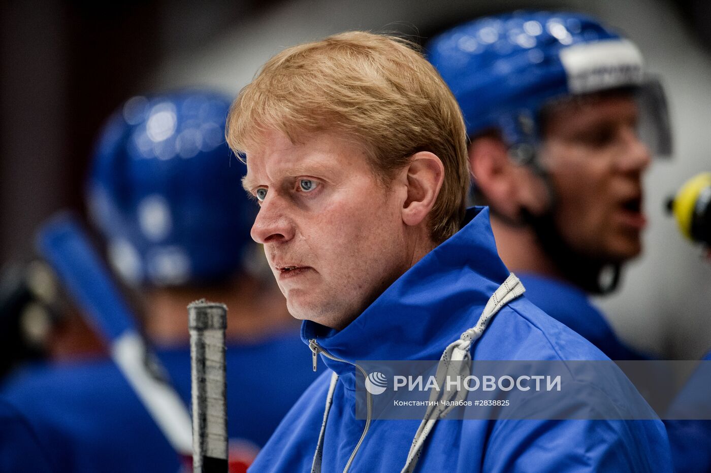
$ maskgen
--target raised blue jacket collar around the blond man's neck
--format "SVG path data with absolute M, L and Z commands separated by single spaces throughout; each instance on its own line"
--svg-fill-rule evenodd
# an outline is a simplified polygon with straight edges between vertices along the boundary
M 471 207 L 459 232 L 397 278 L 350 325 L 332 330 L 304 320 L 301 339 L 306 344 L 316 339 L 334 357 L 351 363 L 436 360 L 476 322 L 508 274 L 496 251 L 488 207 Z M 354 369 L 321 359 L 339 375 Z

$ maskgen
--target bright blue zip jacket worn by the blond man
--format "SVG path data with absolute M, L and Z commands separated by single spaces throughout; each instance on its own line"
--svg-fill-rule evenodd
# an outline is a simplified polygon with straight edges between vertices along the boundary
M 509 272 L 496 254 L 488 210 L 472 209 L 467 224 L 387 288 L 341 331 L 306 321 L 304 342 L 316 339 L 333 357 L 356 360 L 437 360 L 479 320 Z M 504 306 L 471 347 L 474 360 L 606 359 L 579 335 L 525 297 Z M 301 396 L 250 472 L 309 472 L 331 370 L 338 375 L 326 423 L 322 469 L 341 472 L 364 420 L 355 418 L 355 369 L 321 356 L 326 369 Z M 360 376 L 358 374 L 358 376 Z M 597 386 L 605 390 L 606 386 Z M 614 393 L 611 393 L 614 396 Z M 419 420 L 374 420 L 350 472 L 399 472 Z M 661 422 L 604 420 L 440 420 L 417 464 L 422 472 L 668 472 Z

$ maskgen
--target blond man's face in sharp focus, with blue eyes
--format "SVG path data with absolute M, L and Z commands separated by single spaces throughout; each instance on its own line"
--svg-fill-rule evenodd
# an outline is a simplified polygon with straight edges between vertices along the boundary
M 263 138 L 247 153 L 245 188 L 260 200 L 252 238 L 264 244 L 289 312 L 341 329 L 407 271 L 407 192 L 385 189 L 353 142 Z

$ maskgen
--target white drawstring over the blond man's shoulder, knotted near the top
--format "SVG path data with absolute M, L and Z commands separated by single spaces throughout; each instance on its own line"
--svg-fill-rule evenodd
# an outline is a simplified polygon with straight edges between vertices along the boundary
M 444 386 L 442 381 L 446 379 L 446 376 L 461 376 L 462 374 L 471 373 L 471 353 L 469 349 L 474 340 L 481 337 L 484 330 L 488 326 L 488 322 L 491 321 L 496 312 L 500 310 L 504 305 L 508 304 L 511 300 L 518 298 L 525 288 L 523 284 L 518 280 L 518 278 L 510 273 L 506 281 L 503 282 L 501 286 L 491 295 L 486 306 L 484 307 L 481 316 L 479 317 L 479 322 L 476 323 L 474 327 L 467 330 L 458 340 L 451 342 L 444 349 L 442 358 L 439 359 L 439 365 L 437 366 L 437 382 L 439 386 Z M 451 364 L 451 361 L 464 361 L 462 363 L 456 363 L 456 368 L 458 373 L 454 373 L 455 367 Z M 466 371 L 466 373 L 464 372 Z M 444 391 L 444 390 L 443 390 Z M 427 412 L 424 414 L 424 419 L 422 423 L 419 424 L 417 433 L 415 433 L 415 438 L 412 440 L 412 445 L 410 446 L 410 452 L 407 454 L 407 462 L 405 462 L 405 467 L 402 468 L 401 473 L 412 473 L 417 466 L 417 460 L 419 460 L 419 455 L 422 453 L 422 447 L 424 446 L 424 441 L 427 440 L 427 436 L 432 432 L 434 428 L 434 423 L 437 422 L 439 418 L 444 417 L 447 413 L 456 406 L 455 403 L 443 403 L 441 401 L 451 401 L 454 396 L 454 401 L 461 401 L 461 398 L 466 396 L 466 392 L 462 389 L 458 391 L 444 391 L 444 394 L 440 396 L 438 391 L 432 391 L 430 394 L 430 401 L 440 401 L 438 403 L 429 403 Z M 443 406 L 443 404 L 449 404 L 449 406 Z

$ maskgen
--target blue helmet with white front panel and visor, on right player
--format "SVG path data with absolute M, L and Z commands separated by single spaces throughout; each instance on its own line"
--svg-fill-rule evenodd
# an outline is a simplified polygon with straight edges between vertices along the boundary
M 643 141 L 670 153 L 661 85 L 646 75 L 636 45 L 594 18 L 546 11 L 479 18 L 434 38 L 427 53 L 459 102 L 467 134 L 498 129 L 520 161 L 535 156 L 546 104 L 619 87 L 639 99 Z

